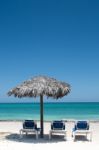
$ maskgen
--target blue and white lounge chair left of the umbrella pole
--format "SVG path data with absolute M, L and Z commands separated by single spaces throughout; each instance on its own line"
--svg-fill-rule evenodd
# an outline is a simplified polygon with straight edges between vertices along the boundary
M 37 123 L 33 120 L 25 120 L 23 122 L 23 129 L 20 130 L 20 137 L 22 137 L 23 133 L 35 133 L 36 139 L 38 139 L 38 133 L 40 132 L 40 128 L 37 128 Z

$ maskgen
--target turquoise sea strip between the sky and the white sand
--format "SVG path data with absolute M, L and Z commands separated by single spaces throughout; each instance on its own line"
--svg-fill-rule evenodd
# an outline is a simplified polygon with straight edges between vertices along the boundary
M 39 103 L 0 103 L 0 120 L 40 120 Z M 44 120 L 99 120 L 99 103 L 44 103 Z

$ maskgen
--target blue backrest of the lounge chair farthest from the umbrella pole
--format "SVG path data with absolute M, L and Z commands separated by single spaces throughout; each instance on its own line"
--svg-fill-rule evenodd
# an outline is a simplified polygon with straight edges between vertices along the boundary
M 78 121 L 75 125 L 76 130 L 89 130 L 89 123 L 87 121 Z

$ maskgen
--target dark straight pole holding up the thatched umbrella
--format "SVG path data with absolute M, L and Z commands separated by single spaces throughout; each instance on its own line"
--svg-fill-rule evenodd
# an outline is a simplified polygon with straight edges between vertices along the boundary
M 41 138 L 43 138 L 43 95 L 40 95 L 40 125 L 41 125 Z

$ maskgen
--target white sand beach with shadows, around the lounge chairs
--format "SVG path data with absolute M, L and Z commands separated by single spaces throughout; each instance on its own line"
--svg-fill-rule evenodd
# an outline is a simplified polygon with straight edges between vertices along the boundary
M 38 127 L 39 127 L 39 122 Z M 73 122 L 66 122 L 67 141 L 61 136 L 53 136 L 51 140 L 48 138 L 50 130 L 50 122 L 44 123 L 43 139 L 39 137 L 36 140 L 35 135 L 24 135 L 22 139 L 19 137 L 19 130 L 22 128 L 21 121 L 0 121 L 0 150 L 99 150 L 99 122 L 91 122 L 92 141 L 84 138 L 77 138 L 74 142 L 71 137 L 71 131 L 74 126 Z

